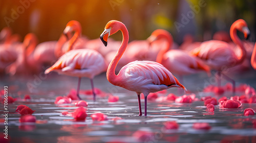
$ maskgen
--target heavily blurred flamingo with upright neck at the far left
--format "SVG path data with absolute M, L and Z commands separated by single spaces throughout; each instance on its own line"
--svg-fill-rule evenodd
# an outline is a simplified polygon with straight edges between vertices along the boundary
M 23 45 L 17 47 L 18 57 L 17 60 L 6 67 L 6 73 L 13 75 L 25 75 L 36 74 L 39 71 L 39 66 L 35 62 L 33 57 L 33 51 L 37 44 L 37 37 L 33 33 L 29 33 L 25 36 Z

